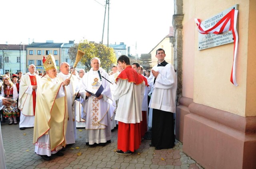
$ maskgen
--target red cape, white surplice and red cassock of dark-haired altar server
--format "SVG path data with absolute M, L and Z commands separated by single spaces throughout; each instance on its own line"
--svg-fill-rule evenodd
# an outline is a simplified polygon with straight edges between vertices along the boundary
M 115 116 L 115 120 L 118 120 L 117 148 L 124 152 L 134 152 L 140 147 L 144 90 L 144 80 L 130 65 L 116 78 L 113 96 L 118 100 Z

